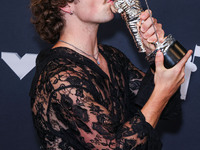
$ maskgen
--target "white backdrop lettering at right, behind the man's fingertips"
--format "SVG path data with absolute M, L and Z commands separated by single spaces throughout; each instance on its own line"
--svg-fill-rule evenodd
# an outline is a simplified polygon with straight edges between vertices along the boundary
M 191 73 L 197 71 L 197 66 L 194 64 L 195 57 L 200 57 L 200 46 L 195 47 L 193 59 L 192 56 L 188 59 L 185 65 L 185 82 L 181 85 L 181 99 L 185 100 L 189 87 Z

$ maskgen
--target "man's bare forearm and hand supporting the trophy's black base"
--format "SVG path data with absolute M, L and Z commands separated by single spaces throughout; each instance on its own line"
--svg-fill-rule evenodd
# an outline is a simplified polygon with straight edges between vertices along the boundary
M 192 50 L 189 50 L 174 67 L 166 69 L 164 67 L 163 53 L 160 51 L 156 53 L 156 72 L 154 76 L 155 88 L 151 94 L 151 97 L 141 109 L 146 121 L 151 124 L 152 127 L 155 128 L 170 97 L 184 82 L 185 63 L 191 54 Z

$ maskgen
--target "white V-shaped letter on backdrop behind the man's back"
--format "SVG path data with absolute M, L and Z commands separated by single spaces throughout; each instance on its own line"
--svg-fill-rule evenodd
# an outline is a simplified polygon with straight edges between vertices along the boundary
M 37 54 L 25 54 L 20 57 L 17 53 L 2 52 L 1 58 L 22 80 L 34 67 Z

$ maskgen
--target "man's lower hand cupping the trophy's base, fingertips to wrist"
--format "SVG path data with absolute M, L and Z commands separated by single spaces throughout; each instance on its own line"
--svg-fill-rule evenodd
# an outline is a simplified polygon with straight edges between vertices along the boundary
M 167 93 L 167 96 L 171 97 L 184 82 L 185 63 L 191 54 L 192 50 L 189 50 L 174 67 L 166 69 L 164 67 L 163 53 L 160 51 L 157 52 L 155 59 L 156 72 L 154 76 L 154 82 L 155 89 L 160 91 L 160 95 Z

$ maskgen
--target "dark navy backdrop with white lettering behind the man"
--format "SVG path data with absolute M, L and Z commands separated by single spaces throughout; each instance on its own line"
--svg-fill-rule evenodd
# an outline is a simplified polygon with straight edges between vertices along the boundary
M 144 0 L 141 2 L 146 9 Z M 194 50 L 181 86 L 182 117 L 160 121 L 157 126 L 163 150 L 199 150 L 200 1 L 149 0 L 149 5 L 166 35 L 172 34 L 186 49 Z M 51 45 L 40 40 L 30 23 L 29 1 L 1 0 L 0 16 L 0 149 L 39 150 L 28 94 L 37 54 Z M 100 26 L 98 37 L 100 43 L 124 52 L 141 70 L 147 69 L 144 55 L 137 52 L 119 15 Z

